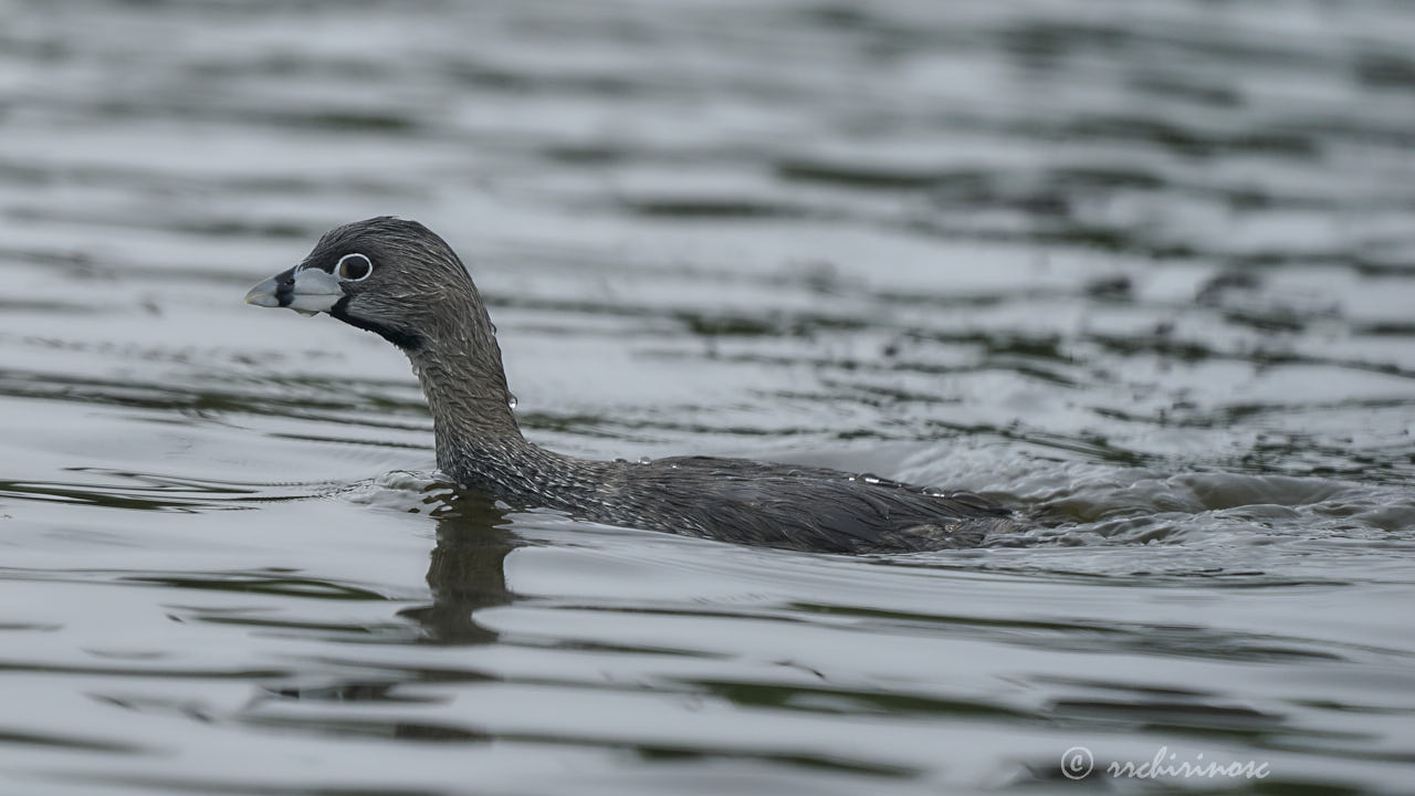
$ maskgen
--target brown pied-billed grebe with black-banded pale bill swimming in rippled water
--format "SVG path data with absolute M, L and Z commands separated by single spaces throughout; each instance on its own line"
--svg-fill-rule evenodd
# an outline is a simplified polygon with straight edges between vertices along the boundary
M 325 232 L 300 265 L 246 295 L 381 334 L 413 363 L 433 415 L 437 467 L 524 506 L 633 528 L 818 552 L 913 552 L 1015 530 L 976 494 L 821 467 L 689 456 L 644 463 L 562 456 L 526 442 L 487 307 L 446 241 L 415 221 Z

